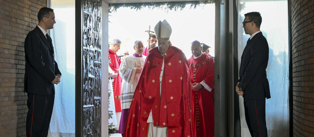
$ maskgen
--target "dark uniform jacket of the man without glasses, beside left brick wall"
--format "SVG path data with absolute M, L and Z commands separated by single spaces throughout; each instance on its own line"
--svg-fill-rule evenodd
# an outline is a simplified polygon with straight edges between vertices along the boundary
M 53 46 L 38 26 L 30 31 L 24 43 L 25 76 L 24 92 L 29 94 L 54 94 L 51 83 L 57 74 L 61 75 L 54 58 Z

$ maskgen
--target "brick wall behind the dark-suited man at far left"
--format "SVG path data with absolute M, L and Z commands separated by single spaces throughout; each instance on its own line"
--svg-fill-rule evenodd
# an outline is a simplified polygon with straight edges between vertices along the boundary
M 26 136 L 24 39 L 47 0 L 0 0 L 0 137 Z

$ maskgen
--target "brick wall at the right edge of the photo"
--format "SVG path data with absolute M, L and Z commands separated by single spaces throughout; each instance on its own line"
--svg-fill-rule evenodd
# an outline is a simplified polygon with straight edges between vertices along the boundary
M 293 136 L 314 136 L 314 1 L 290 0 Z

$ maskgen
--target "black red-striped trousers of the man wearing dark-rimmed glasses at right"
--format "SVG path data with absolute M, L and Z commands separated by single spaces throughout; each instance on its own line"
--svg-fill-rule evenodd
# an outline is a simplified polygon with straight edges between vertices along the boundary
M 244 98 L 245 120 L 252 137 L 267 137 L 265 101 Z

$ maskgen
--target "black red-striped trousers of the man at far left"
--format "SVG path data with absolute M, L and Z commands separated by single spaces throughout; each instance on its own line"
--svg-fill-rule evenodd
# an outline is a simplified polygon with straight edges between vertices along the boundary
M 49 96 L 38 94 L 27 95 L 26 136 L 47 137 L 55 94 Z

